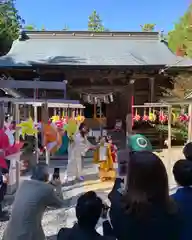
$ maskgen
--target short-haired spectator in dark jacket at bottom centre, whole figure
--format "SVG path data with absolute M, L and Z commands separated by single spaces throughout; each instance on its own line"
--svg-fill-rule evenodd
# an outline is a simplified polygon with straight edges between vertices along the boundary
M 61 228 L 57 240 L 115 240 L 95 230 L 103 207 L 102 200 L 93 191 L 80 196 L 76 205 L 77 223 L 72 228 Z

